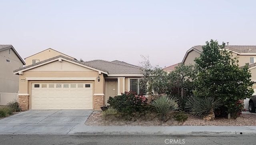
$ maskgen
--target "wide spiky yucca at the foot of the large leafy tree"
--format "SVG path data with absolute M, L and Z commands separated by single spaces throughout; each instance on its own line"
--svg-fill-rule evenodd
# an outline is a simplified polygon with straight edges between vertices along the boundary
M 216 100 L 214 97 L 199 98 L 192 96 L 188 98 L 185 109 L 193 116 L 206 116 L 212 113 L 214 109 L 222 106 L 220 100 Z

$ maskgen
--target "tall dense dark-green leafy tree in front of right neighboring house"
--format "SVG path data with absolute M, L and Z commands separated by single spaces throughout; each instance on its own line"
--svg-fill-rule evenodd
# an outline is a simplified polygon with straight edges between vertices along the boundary
M 240 68 L 238 59 L 232 59 L 232 53 L 224 48 L 225 43 L 218 45 L 214 40 L 202 47 L 200 57 L 195 59 L 198 80 L 194 95 L 222 100 L 226 113 L 236 118 L 242 107 L 239 100 L 252 95 L 253 82 L 248 65 Z

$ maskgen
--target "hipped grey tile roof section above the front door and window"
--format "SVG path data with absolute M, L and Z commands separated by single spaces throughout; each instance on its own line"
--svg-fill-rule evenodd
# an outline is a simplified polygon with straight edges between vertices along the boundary
M 109 74 L 140 74 L 142 69 L 141 67 L 130 64 L 113 63 L 111 61 L 103 60 L 86 61 L 84 64 L 102 68 L 107 70 Z

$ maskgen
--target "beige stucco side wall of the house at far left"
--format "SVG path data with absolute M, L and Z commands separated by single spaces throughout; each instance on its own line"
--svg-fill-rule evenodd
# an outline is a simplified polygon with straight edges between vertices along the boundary
M 10 63 L 6 61 L 10 60 Z M 13 71 L 22 67 L 23 64 L 17 55 L 10 49 L 0 51 L 0 92 L 18 93 L 19 76 Z

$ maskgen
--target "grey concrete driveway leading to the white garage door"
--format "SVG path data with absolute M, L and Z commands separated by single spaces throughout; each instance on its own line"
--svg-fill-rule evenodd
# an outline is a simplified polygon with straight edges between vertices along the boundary
M 92 110 L 28 110 L 0 120 L 0 134 L 68 134 Z

